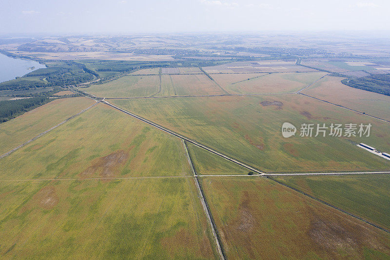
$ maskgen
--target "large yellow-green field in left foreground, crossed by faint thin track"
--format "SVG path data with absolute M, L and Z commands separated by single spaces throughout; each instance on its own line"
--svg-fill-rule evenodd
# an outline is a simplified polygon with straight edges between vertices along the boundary
M 0 162 L 3 258 L 217 258 L 182 141 L 107 105 Z

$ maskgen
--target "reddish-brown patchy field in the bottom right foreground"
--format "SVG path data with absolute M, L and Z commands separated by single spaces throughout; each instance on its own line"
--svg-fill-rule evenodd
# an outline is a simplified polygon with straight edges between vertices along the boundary
M 264 178 L 203 177 L 228 259 L 390 257 L 390 236 Z

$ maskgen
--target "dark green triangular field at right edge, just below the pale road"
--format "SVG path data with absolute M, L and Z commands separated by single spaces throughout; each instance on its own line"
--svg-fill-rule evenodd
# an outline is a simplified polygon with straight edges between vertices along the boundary
M 275 179 L 390 229 L 390 175 L 282 176 Z

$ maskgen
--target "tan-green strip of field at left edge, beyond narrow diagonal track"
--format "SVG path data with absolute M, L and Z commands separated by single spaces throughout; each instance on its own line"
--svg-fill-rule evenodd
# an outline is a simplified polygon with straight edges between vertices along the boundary
M 53 100 L 15 119 L 1 123 L 0 154 L 12 150 L 94 102 L 82 97 Z

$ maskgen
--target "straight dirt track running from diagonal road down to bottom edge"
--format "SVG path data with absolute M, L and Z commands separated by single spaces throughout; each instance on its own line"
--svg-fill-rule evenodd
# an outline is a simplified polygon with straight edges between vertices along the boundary
M 198 194 L 199 194 L 198 197 L 200 199 L 200 203 L 202 204 L 203 211 L 206 214 L 207 220 L 209 220 L 209 224 L 211 226 L 213 237 L 215 239 L 215 244 L 216 244 L 217 249 L 218 249 L 219 258 L 222 259 L 222 260 L 225 260 L 225 253 L 224 253 L 224 250 L 222 248 L 222 243 L 220 241 L 220 238 L 219 238 L 219 235 L 218 235 L 218 231 L 216 229 L 216 225 L 215 225 L 213 216 L 211 215 L 211 211 L 210 211 L 209 205 L 207 204 L 206 198 L 204 197 L 204 194 L 203 194 L 203 190 L 202 190 L 202 188 L 200 186 L 199 180 L 197 179 L 197 174 L 196 174 L 196 171 L 195 171 L 195 168 L 194 168 L 194 164 L 193 164 L 193 162 L 191 160 L 190 153 L 188 152 L 187 143 L 183 139 L 182 139 L 182 142 L 183 142 L 184 149 L 186 151 L 186 156 L 187 156 L 187 159 L 188 159 L 188 163 L 190 163 L 191 170 L 192 170 L 192 172 L 194 174 L 195 185 L 196 185 L 196 188 L 197 188 L 197 191 L 198 191 Z

